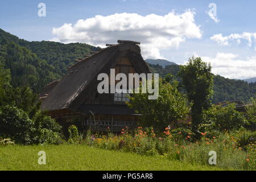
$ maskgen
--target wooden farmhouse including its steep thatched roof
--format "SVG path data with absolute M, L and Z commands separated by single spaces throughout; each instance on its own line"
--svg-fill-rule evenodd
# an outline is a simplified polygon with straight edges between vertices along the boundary
M 93 55 L 77 60 L 61 80 L 47 85 L 40 94 L 42 110 L 48 110 L 52 118 L 64 130 L 72 124 L 79 129 L 92 131 L 121 131 L 125 126 L 134 128 L 139 114 L 125 104 L 127 94 L 97 92 L 100 73 L 150 73 L 141 56 L 138 42 L 118 40 L 118 44 L 107 44 Z M 109 85 L 112 86 L 112 85 Z

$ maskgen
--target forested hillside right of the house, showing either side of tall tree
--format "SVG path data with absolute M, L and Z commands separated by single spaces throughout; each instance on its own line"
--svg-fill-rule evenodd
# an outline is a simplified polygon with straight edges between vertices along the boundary
M 167 65 L 163 68 L 160 65 L 149 64 L 151 72 L 159 73 L 164 76 L 171 73 L 180 81 L 177 72 L 179 72 L 179 65 Z M 256 96 L 256 82 L 248 84 L 242 80 L 232 80 L 219 75 L 214 76 L 214 96 L 213 103 L 221 101 L 240 100 L 248 101 L 251 97 Z

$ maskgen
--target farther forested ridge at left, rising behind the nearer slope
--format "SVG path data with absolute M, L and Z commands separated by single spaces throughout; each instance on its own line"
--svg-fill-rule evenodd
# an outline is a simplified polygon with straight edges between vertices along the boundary
M 99 47 L 82 43 L 63 44 L 50 41 L 28 42 L 0 28 L 0 45 L 6 44 L 7 42 L 14 42 L 19 44 L 19 46 L 26 47 L 40 59 L 46 60 L 61 76 L 67 72 L 67 67 L 75 64 L 76 59 L 84 57 L 84 55 L 89 54 L 90 51 L 98 51 L 98 49 L 100 49 Z

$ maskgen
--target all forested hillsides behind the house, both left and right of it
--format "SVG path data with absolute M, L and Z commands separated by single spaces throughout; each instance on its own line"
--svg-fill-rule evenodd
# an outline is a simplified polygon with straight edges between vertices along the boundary
M 4 69 L 10 69 L 11 84 L 14 87 L 27 85 L 36 93 L 49 82 L 60 79 L 76 59 L 98 49 L 81 43 L 28 42 L 0 29 L 0 64 Z M 172 73 L 180 81 L 177 77 L 179 65 L 166 65 L 165 68 L 149 65 L 152 72 L 162 77 Z M 256 83 L 214 76 L 213 102 L 248 101 L 255 97 L 255 93 Z

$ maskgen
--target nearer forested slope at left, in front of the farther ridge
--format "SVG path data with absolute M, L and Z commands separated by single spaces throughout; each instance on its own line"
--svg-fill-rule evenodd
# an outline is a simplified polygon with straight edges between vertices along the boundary
M 29 86 L 39 93 L 49 82 L 61 78 L 52 65 L 14 42 L 1 45 L 0 62 L 10 69 L 14 87 Z

